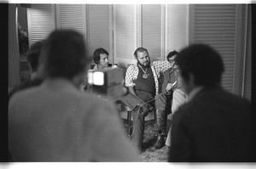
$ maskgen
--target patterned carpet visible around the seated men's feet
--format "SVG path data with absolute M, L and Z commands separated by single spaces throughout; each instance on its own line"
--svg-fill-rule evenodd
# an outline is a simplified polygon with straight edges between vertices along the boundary
M 170 128 L 171 122 L 170 120 L 167 121 L 167 129 Z M 126 124 L 125 120 L 124 124 Z M 154 132 L 154 127 L 153 120 L 145 122 L 143 151 L 139 155 L 139 159 L 143 162 L 167 162 L 169 147 L 166 145 L 161 149 L 154 149 L 154 143 L 157 139 L 157 132 Z M 128 127 L 125 126 L 125 129 L 128 133 Z

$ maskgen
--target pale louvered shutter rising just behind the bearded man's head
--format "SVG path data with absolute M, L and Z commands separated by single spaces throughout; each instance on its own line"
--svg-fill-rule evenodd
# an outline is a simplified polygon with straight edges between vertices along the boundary
M 163 59 L 162 51 L 162 8 L 160 4 L 143 4 L 142 47 L 147 48 L 151 60 Z

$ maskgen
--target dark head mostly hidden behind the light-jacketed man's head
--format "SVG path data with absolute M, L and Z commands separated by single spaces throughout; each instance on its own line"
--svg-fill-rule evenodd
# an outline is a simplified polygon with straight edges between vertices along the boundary
M 27 61 L 31 65 L 32 72 L 38 70 L 38 59 L 43 47 L 43 41 L 38 41 L 32 44 L 27 54 Z

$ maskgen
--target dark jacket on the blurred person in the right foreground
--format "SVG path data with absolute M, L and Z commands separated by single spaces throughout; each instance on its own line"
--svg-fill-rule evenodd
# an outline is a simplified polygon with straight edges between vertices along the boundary
M 172 118 L 169 161 L 250 161 L 251 104 L 204 88 Z

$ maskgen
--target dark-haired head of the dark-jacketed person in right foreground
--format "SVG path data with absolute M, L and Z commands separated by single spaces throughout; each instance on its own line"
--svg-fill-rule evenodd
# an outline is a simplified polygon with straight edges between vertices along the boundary
M 220 54 L 207 44 L 192 44 L 177 55 L 177 65 L 186 81 L 189 74 L 195 76 L 195 84 L 216 86 L 221 82 L 224 64 Z

